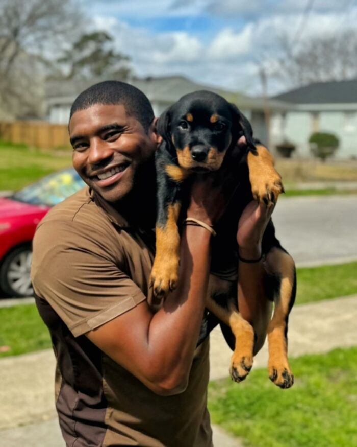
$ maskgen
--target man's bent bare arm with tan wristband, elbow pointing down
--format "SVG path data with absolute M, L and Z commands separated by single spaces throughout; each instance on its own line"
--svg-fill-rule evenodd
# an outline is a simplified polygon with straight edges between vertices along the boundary
M 212 224 L 226 206 L 214 176 L 193 185 L 188 217 Z M 169 395 L 183 391 L 197 344 L 205 308 L 210 270 L 211 232 L 185 227 L 177 289 L 153 314 L 146 302 L 87 333 L 88 338 L 152 391 Z

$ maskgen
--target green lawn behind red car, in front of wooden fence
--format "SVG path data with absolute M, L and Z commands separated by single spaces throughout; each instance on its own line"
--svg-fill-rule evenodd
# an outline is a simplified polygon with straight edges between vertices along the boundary
M 40 151 L 0 142 L 0 190 L 18 190 L 44 175 L 71 166 L 71 151 Z

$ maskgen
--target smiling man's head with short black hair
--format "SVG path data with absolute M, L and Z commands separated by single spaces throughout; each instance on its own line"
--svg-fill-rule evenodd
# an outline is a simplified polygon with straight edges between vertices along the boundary
M 124 82 L 100 82 L 83 91 L 68 127 L 75 170 L 109 202 L 132 191 L 157 146 L 150 102 Z

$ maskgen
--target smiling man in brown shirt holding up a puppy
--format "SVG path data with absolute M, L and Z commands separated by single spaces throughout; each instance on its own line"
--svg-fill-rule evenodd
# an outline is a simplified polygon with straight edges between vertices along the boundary
M 96 84 L 74 101 L 69 135 L 73 166 L 88 187 L 40 223 L 32 266 L 57 358 L 56 407 L 66 444 L 209 447 L 209 344 L 196 344 L 211 232 L 183 229 L 179 286 L 158 306 L 148 287 L 160 140 L 150 103 L 128 84 Z M 213 178 L 197 179 L 187 210 L 209 225 L 226 206 Z M 260 257 L 271 211 L 253 202 L 245 209 L 242 257 Z M 258 349 L 271 311 L 262 262 L 244 264 L 240 277 L 239 304 Z

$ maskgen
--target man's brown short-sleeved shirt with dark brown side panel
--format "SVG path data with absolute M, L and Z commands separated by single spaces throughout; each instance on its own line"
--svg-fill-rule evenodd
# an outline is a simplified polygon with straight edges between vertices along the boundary
M 163 397 L 84 335 L 150 302 L 154 242 L 152 230 L 131 227 L 87 187 L 37 228 L 32 281 L 57 358 L 56 407 L 67 446 L 212 446 L 208 340 L 196 350 L 186 391 Z

